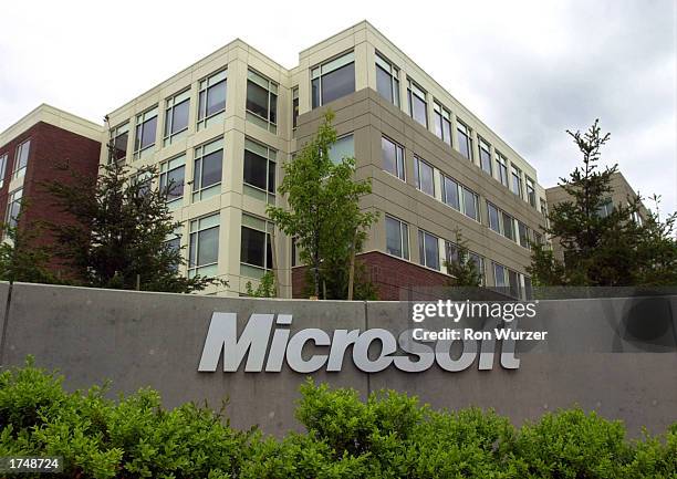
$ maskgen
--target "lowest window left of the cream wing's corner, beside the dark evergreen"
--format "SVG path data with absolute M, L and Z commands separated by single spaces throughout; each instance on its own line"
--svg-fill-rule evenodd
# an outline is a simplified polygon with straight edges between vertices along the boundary
M 219 265 L 219 214 L 190 221 L 188 278 L 213 277 Z

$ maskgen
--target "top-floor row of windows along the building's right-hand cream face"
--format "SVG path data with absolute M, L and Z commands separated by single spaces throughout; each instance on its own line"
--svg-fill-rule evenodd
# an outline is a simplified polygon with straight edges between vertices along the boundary
M 376 90 L 388 102 L 399 106 L 399 69 L 385 56 L 376 53 Z M 407 77 L 407 107 L 409 116 L 425 128 L 428 127 L 428 102 L 426 91 L 414 80 Z M 433 132 L 449 146 L 452 144 L 451 112 L 439 101 L 434 100 Z M 459 153 L 473 162 L 472 129 L 461 119 L 456 121 L 456 142 Z M 491 145 L 478 135 L 479 165 L 482 170 L 496 177 L 503 186 L 509 188 L 520 198 L 525 199 L 532 207 L 537 208 L 535 184 L 533 179 L 523 175 L 521 169 L 511 164 L 511 177 L 508 177 L 508 160 L 496 150 L 496 176 L 491 162 Z

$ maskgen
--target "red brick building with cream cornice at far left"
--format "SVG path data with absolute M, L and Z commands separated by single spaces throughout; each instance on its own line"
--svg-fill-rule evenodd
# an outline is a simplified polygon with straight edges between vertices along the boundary
M 3 222 L 25 228 L 41 220 L 67 221 L 44 181 L 67 184 L 74 180 L 70 171 L 95 177 L 102 136 L 101 125 L 45 104 L 0 133 Z M 63 169 L 66 165 L 70 171 Z M 45 243 L 50 237 L 42 231 L 35 241 Z

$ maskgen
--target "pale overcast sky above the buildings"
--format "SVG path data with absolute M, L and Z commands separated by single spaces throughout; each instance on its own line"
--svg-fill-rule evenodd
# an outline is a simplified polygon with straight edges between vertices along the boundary
M 235 38 L 284 66 L 363 19 L 533 164 L 549 187 L 598 117 L 631 185 L 677 209 L 675 0 L 11 1 L 0 131 L 40 103 L 100 122 Z M 653 207 L 652 204 L 647 206 Z

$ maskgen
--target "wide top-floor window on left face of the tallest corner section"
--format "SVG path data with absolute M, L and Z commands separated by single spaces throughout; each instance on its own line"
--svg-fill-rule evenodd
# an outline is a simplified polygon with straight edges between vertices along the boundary
M 355 53 L 350 52 L 311 72 L 313 108 L 355 91 Z

